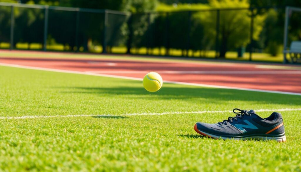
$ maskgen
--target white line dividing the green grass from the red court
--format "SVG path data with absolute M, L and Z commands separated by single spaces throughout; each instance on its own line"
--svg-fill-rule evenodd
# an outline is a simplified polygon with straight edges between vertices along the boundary
M 45 71 L 61 72 L 61 73 L 75 73 L 75 74 L 82 74 L 82 75 L 111 77 L 111 78 L 129 79 L 129 80 L 140 80 L 140 81 L 142 80 L 142 78 L 135 78 L 135 77 L 124 77 L 124 76 L 116 76 L 116 75 L 108 75 L 108 74 L 99 74 L 99 73 L 93 73 L 93 72 L 80 72 L 80 71 L 73 71 L 73 70 L 51 69 L 51 68 L 45 68 L 45 67 L 32 67 L 32 66 L 23 66 L 23 65 L 18 65 L 18 64 L 0 63 L 0 66 L 18 67 L 18 68 L 33 69 L 33 70 L 45 70 Z M 239 87 L 231 87 L 231 86 L 216 86 L 216 85 L 209 85 L 209 84 L 185 83 L 185 82 L 166 81 L 166 80 L 164 80 L 164 83 L 202 86 L 202 87 L 211 87 L 211 88 L 220 88 L 220 89 L 236 89 L 236 90 L 243 90 L 243 91 L 268 92 L 268 93 L 278 93 L 278 94 L 288 94 L 288 95 L 301 95 L 301 93 L 296 93 L 296 92 L 249 89 L 249 88 L 239 88 Z

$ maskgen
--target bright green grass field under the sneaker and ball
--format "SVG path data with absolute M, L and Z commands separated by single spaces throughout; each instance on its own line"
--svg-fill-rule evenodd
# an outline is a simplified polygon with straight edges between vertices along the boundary
M 300 111 L 282 112 L 284 143 L 193 130 L 230 112 L 173 114 L 300 108 L 301 96 L 168 83 L 150 94 L 135 80 L 2 66 L 0 73 L 1 171 L 301 171 Z M 146 114 L 122 115 L 133 113 Z M 92 116 L 3 119 L 83 114 Z

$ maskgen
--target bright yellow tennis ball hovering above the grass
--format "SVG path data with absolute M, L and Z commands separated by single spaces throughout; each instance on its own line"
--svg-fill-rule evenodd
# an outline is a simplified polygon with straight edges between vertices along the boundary
M 143 86 L 149 92 L 158 91 L 162 84 L 162 77 L 156 72 L 147 73 L 143 78 Z

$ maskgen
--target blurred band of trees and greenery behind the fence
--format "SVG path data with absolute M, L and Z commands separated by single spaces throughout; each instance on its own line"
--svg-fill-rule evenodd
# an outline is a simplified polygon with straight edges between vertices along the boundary
M 282 60 L 285 6 L 301 7 L 300 0 L 0 0 L 24 4 L 111 9 L 133 15 L 49 11 L 47 49 L 108 53 L 238 58 L 250 50 L 253 15 L 255 58 Z M 259 8 L 258 8 L 259 7 Z M 266 8 L 265 8 L 266 7 Z M 242 8 L 217 11 L 213 9 Z M 251 11 L 249 8 L 254 8 Z M 0 6 L 0 48 L 9 48 L 11 8 Z M 151 13 L 148 13 L 151 12 Z M 168 14 L 166 13 L 168 12 Z M 44 9 L 14 8 L 14 48 L 42 49 Z M 291 16 L 289 41 L 301 40 L 300 14 Z M 297 22 L 298 21 L 298 22 Z M 218 27 L 218 28 L 217 28 Z M 216 37 L 217 31 L 219 36 Z M 104 40 L 105 39 L 105 40 Z M 216 44 L 218 42 L 218 44 Z M 127 46 L 130 49 L 127 50 Z M 217 47 L 218 46 L 218 47 Z M 218 50 L 218 54 L 215 51 Z M 243 55 L 240 59 L 248 59 Z M 276 61 L 277 61 L 276 60 Z

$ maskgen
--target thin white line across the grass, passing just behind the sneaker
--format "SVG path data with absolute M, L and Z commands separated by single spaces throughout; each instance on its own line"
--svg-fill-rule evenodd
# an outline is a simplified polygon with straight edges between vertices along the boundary
M 256 112 L 268 111 L 301 111 L 301 108 L 285 108 L 285 109 L 259 109 Z M 204 114 L 204 113 L 225 113 L 232 111 L 188 111 L 188 112 L 162 112 L 162 113 L 132 113 L 132 114 L 101 114 L 101 115 L 53 115 L 53 116 L 21 116 L 21 117 L 0 117 L 0 119 L 26 119 L 26 118 L 52 118 L 52 117 L 109 117 L 109 116 L 135 116 L 135 115 L 167 115 L 167 114 Z

